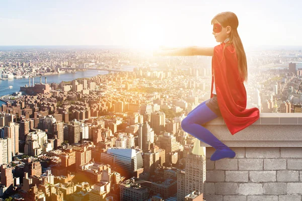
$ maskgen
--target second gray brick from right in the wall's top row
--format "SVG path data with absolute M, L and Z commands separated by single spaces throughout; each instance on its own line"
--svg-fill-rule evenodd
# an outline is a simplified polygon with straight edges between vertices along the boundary
M 246 158 L 279 158 L 279 147 L 246 147 Z

